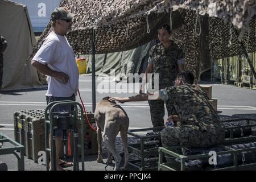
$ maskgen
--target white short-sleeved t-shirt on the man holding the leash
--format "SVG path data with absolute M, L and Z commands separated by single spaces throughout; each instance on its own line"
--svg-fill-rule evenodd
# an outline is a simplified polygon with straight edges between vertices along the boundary
M 51 32 L 42 47 L 32 59 L 47 65 L 53 71 L 63 72 L 69 76 L 66 84 L 47 76 L 48 90 L 46 96 L 70 97 L 77 95 L 79 88 L 79 70 L 76 65 L 75 55 L 65 36 Z

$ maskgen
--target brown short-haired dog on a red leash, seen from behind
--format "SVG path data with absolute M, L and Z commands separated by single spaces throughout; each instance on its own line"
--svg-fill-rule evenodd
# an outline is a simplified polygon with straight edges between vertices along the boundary
M 97 162 L 103 162 L 102 146 L 101 146 L 101 132 L 103 131 L 103 139 L 109 149 L 107 163 L 112 163 L 111 154 L 114 156 L 115 167 L 114 170 L 127 169 L 128 163 L 128 148 L 127 148 L 127 130 L 129 128 L 129 118 L 121 106 L 115 104 L 114 101 L 109 101 L 110 97 L 104 97 L 96 106 L 94 118 L 97 124 L 97 140 L 98 140 L 98 159 Z M 115 138 L 120 131 L 123 142 L 123 150 L 125 153 L 125 164 L 120 168 L 121 156 L 115 149 Z M 110 154 L 111 152 L 111 154 Z

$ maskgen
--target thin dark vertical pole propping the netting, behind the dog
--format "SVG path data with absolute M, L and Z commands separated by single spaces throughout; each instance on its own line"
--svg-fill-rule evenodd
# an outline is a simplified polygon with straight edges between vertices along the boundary
M 92 111 L 94 113 L 96 107 L 96 84 L 95 84 L 95 35 L 92 28 Z

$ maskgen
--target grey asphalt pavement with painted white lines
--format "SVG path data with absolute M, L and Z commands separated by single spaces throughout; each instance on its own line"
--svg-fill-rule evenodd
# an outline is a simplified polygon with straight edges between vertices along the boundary
M 80 75 L 79 88 L 86 109 L 92 110 L 92 77 Z M 233 85 L 222 85 L 217 82 L 202 81 L 200 84 L 212 85 L 212 98 L 218 100 L 218 110 L 222 111 L 222 116 L 251 116 L 256 115 L 256 90 L 239 88 Z M 103 97 L 127 97 L 138 93 L 138 85 L 131 89 L 133 84 L 127 84 L 125 81 L 118 84 L 112 79 L 96 81 L 96 102 Z M 126 88 L 130 88 L 127 90 Z M 46 93 L 44 89 L 14 90 L 0 94 L 0 132 L 14 138 L 13 114 L 19 110 L 35 110 L 46 108 Z M 104 93 L 103 93 L 104 92 Z M 79 97 L 76 97 L 79 101 Z M 147 101 L 129 102 L 120 104 L 130 118 L 130 129 L 139 129 L 152 127 L 150 119 L 150 108 Z M 167 111 L 166 111 L 167 113 Z M 167 114 L 164 117 L 167 118 Z M 121 149 L 119 148 L 119 151 Z M 104 148 L 104 161 L 106 160 L 106 148 Z M 105 171 L 105 163 L 96 162 L 97 155 L 88 155 L 85 157 L 85 170 L 87 171 Z M 14 155 L 0 155 L 0 161 L 7 164 L 9 170 L 17 170 L 17 162 Z M 46 166 L 35 163 L 25 157 L 26 170 L 46 170 Z M 108 171 L 113 170 L 113 165 L 106 167 Z

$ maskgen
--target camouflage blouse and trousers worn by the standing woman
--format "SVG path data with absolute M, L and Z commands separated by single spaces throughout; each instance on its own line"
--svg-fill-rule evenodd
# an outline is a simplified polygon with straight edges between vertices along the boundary
M 184 53 L 180 46 L 171 40 L 167 49 L 162 43 L 153 46 L 149 52 L 148 64 L 153 64 L 153 72 L 159 74 L 159 90 L 174 86 L 174 81 L 179 73 L 178 64 L 184 64 Z M 154 85 L 154 78 L 150 80 Z M 154 87 L 153 87 L 154 88 Z M 175 114 L 170 101 L 148 100 L 153 127 L 164 126 L 164 103 L 166 103 L 168 115 Z

